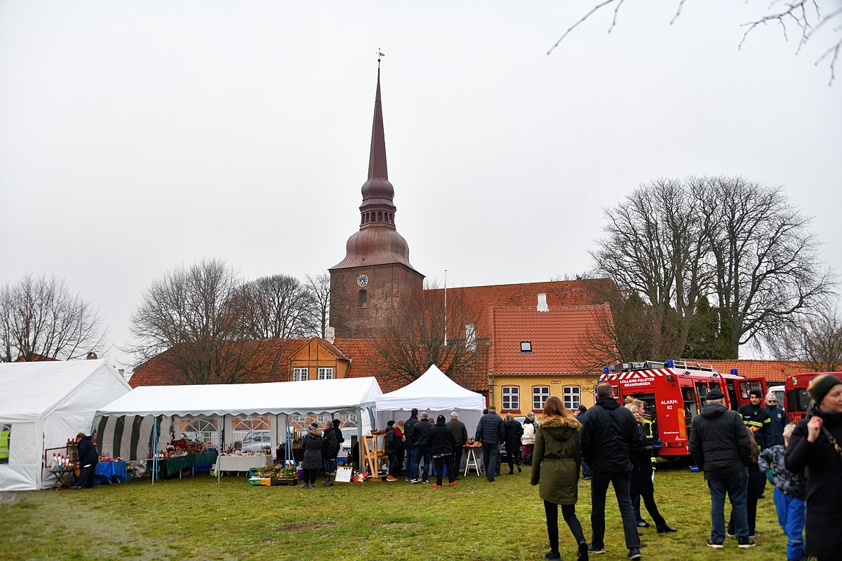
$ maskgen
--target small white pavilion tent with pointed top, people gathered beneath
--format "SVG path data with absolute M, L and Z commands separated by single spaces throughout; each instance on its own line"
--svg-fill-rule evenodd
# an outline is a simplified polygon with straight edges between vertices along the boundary
M 419 413 L 427 411 L 433 419 L 445 415 L 448 421 L 450 412 L 456 411 L 459 420 L 467 427 L 468 436 L 473 437 L 485 408 L 485 398 L 482 394 L 462 388 L 433 364 L 411 384 L 377 398 L 377 427 L 385 428 L 390 420 L 406 421 L 413 408 L 417 408 Z

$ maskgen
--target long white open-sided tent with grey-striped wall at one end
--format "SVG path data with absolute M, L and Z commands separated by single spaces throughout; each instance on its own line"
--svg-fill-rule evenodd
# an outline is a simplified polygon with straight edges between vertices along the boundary
M 223 438 L 232 442 L 232 416 L 269 415 L 272 447 L 278 442 L 277 415 L 356 414 L 361 434 L 374 425 L 381 394 L 376 378 L 144 386 L 97 411 L 100 442 L 115 456 L 147 458 L 152 442 L 157 442 L 158 450 L 166 447 L 179 417 L 222 417 Z

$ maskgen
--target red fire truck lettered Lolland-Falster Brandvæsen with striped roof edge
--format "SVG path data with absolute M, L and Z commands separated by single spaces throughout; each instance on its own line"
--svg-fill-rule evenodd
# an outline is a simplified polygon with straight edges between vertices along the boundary
M 616 400 L 626 403 L 626 397 L 642 400 L 646 413 L 651 415 L 651 433 L 658 456 L 665 459 L 685 458 L 690 423 L 706 403 L 707 393 L 719 389 L 725 394 L 725 406 L 736 410 L 750 403 L 749 392 L 759 389 L 765 395 L 765 378 L 743 378 L 733 368 L 720 373 L 710 364 L 685 363 L 669 360 L 666 363 L 621 363 L 606 366 L 600 382 L 609 382 Z

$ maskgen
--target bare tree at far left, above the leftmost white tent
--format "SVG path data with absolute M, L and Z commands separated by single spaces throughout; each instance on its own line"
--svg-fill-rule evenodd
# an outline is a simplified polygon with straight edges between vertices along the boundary
M 6 283 L 0 291 L 0 362 L 72 360 L 102 352 L 107 330 L 99 312 L 56 275 Z

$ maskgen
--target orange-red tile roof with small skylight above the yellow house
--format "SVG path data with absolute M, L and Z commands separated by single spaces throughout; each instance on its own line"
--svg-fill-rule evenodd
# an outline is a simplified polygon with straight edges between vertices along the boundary
M 606 305 L 550 308 L 492 307 L 492 348 L 489 370 L 495 374 L 596 373 L 583 365 L 593 362 L 582 349 L 589 336 L 600 333 L 600 315 L 610 314 Z M 531 352 L 520 343 L 530 341 Z M 605 357 L 605 364 L 610 362 Z

